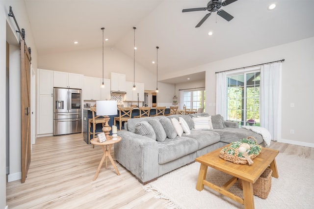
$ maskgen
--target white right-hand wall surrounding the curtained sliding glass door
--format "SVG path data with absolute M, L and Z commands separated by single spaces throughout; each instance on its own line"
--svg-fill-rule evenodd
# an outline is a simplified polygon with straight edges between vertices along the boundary
M 311 128 L 314 118 L 311 85 L 314 78 L 314 37 L 187 69 L 183 75 L 206 71 L 206 109 L 209 114 L 215 114 L 215 106 L 209 105 L 215 104 L 215 72 L 283 58 L 286 61 L 282 72 L 282 138 L 278 141 L 314 147 Z M 290 103 L 295 107 L 291 108 Z M 290 134 L 290 130 L 294 130 L 294 134 Z

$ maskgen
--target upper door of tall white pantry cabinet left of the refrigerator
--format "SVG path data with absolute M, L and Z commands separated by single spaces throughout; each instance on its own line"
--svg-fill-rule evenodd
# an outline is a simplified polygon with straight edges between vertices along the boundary
M 53 71 L 38 69 L 39 94 L 52 95 L 53 93 Z

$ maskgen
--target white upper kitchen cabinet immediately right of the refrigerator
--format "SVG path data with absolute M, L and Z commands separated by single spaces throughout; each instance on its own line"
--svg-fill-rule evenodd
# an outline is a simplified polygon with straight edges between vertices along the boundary
M 84 76 L 83 100 L 101 100 L 102 78 Z

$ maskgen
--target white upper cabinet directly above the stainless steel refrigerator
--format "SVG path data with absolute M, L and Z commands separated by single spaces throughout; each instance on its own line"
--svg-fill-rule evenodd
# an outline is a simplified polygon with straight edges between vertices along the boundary
M 53 71 L 53 86 L 61 88 L 82 88 L 83 75 Z

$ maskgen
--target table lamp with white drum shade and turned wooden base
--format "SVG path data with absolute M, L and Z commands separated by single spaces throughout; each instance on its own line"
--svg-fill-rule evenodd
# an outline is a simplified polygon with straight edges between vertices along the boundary
M 110 120 L 109 115 L 117 115 L 117 101 L 113 100 L 99 100 L 96 101 L 96 115 L 103 116 L 105 118 L 105 126 L 103 127 L 103 131 L 106 136 L 106 140 L 110 140 L 110 131 L 111 127 L 108 122 Z

